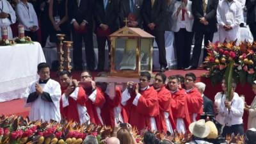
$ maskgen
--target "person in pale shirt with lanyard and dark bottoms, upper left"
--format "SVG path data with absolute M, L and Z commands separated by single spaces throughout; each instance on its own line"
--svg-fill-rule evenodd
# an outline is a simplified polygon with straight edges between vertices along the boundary
M 37 40 L 38 19 L 35 9 L 28 0 L 21 0 L 16 6 L 17 16 L 19 18 L 19 24 L 24 26 L 25 35 L 30 36 L 31 40 Z

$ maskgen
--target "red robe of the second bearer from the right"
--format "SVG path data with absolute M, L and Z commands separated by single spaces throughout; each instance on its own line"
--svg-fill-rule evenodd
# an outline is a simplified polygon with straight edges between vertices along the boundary
M 172 113 L 175 124 L 177 124 L 177 118 L 182 118 L 184 120 L 186 130 L 188 130 L 189 124 L 191 123 L 189 112 L 187 93 L 184 89 L 179 89 L 177 92 L 172 93 Z M 178 125 L 177 125 L 178 126 Z

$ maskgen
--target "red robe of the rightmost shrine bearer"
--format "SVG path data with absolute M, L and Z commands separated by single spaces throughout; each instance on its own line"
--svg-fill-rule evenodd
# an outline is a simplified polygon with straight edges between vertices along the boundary
M 188 108 L 191 122 L 193 122 L 193 113 L 197 113 L 196 120 L 199 120 L 200 115 L 203 113 L 203 97 L 197 88 L 193 88 L 188 92 Z

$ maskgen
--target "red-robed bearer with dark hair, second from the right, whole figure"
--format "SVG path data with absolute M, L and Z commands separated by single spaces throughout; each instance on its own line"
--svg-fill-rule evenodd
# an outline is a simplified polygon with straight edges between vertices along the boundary
M 188 131 L 189 124 L 191 123 L 189 112 L 187 93 L 184 89 L 179 88 L 180 80 L 177 76 L 168 77 L 168 89 L 172 93 L 172 113 L 173 119 L 176 124 L 176 129 L 179 133 L 186 133 Z

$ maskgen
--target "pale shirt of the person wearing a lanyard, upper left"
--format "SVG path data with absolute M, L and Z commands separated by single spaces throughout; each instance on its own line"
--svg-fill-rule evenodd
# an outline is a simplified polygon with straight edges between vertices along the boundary
M 25 31 L 30 31 L 29 28 L 32 26 L 37 26 L 38 29 L 38 19 L 31 3 L 25 4 L 20 1 L 16 6 L 16 13 L 19 18 L 19 23 L 24 25 Z

